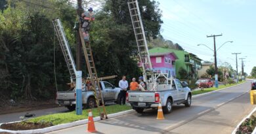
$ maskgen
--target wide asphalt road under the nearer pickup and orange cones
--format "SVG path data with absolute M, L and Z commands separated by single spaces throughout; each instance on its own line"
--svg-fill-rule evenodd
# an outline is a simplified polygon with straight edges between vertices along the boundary
M 165 120 L 156 120 L 157 110 L 126 114 L 95 122 L 96 133 L 232 133 L 237 124 L 255 107 L 249 102 L 250 82 L 207 95 L 194 97 L 192 106 L 175 105 Z M 57 133 L 86 133 L 87 126 L 76 126 Z

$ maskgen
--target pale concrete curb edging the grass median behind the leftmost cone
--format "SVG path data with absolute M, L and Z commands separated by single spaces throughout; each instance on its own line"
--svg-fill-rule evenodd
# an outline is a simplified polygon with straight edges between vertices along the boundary
M 125 110 L 125 111 L 122 111 L 122 112 L 117 112 L 117 113 L 114 113 L 114 114 L 109 114 L 108 118 L 114 118 L 114 117 L 121 116 L 121 115 L 124 115 L 124 114 L 130 114 L 133 111 L 134 110 L 131 109 L 131 110 Z M 100 117 L 95 117 L 95 118 L 93 118 L 93 120 L 95 122 L 98 122 L 98 121 L 100 121 Z M 23 134 L 23 133 L 48 133 L 48 132 L 51 132 L 51 131 L 56 131 L 56 130 L 59 130 L 59 129 L 65 129 L 65 128 L 68 128 L 68 127 L 80 126 L 80 125 L 83 125 L 83 124 L 87 124 L 87 122 L 88 122 L 88 119 L 78 120 L 78 121 L 75 121 L 75 122 L 70 122 L 68 124 L 60 124 L 60 125 L 56 125 L 56 126 L 45 127 L 45 128 L 42 128 L 42 129 L 31 129 L 31 130 L 13 131 L 13 130 L 7 130 L 7 129 L 0 129 L 0 133 L 1 132 L 19 133 L 19 134 Z M 14 122 L 9 122 L 9 123 L 14 123 Z M 1 126 L 1 124 L 0 124 L 0 126 Z

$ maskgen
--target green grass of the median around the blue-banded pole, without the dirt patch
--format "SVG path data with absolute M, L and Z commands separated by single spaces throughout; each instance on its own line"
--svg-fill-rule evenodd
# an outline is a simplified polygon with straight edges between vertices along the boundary
M 121 112 L 129 109 L 131 109 L 131 107 L 127 105 L 110 105 L 110 106 L 106 106 L 106 113 L 113 114 L 116 112 Z M 93 116 L 94 117 L 99 116 L 98 109 L 93 109 Z M 83 120 L 87 118 L 88 118 L 88 109 L 83 110 L 82 115 L 76 115 L 75 111 L 73 111 L 73 112 L 39 116 L 37 118 L 27 120 L 26 122 L 33 122 L 33 123 L 51 122 L 53 125 L 58 125 L 58 124 L 66 124 L 69 122 L 75 122 L 77 120 Z

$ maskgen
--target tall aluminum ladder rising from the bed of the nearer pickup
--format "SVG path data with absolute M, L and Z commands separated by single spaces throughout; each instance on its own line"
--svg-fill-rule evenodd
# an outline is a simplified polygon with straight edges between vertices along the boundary
M 142 24 L 142 19 L 140 16 L 139 4 L 137 0 L 129 0 L 128 7 L 131 15 L 131 22 L 133 24 L 133 29 L 135 32 L 135 39 L 137 41 L 137 46 L 139 50 L 140 63 L 143 70 L 144 82 L 149 84 L 147 76 L 154 80 L 152 64 L 150 61 L 150 55 L 148 52 L 148 44 L 146 43 L 146 36 L 144 33 L 144 28 Z M 154 85 L 148 86 L 148 90 L 152 90 Z

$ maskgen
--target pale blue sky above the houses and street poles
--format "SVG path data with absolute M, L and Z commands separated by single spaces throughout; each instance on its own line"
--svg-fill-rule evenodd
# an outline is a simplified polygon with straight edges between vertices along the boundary
M 238 72 L 251 73 L 256 66 L 256 1 L 255 0 L 156 0 L 160 3 L 163 24 L 161 35 L 164 39 L 179 43 L 184 50 L 196 54 L 200 59 L 214 61 L 213 37 L 216 37 L 217 63 L 230 63 Z M 197 44 L 205 44 L 198 46 Z

